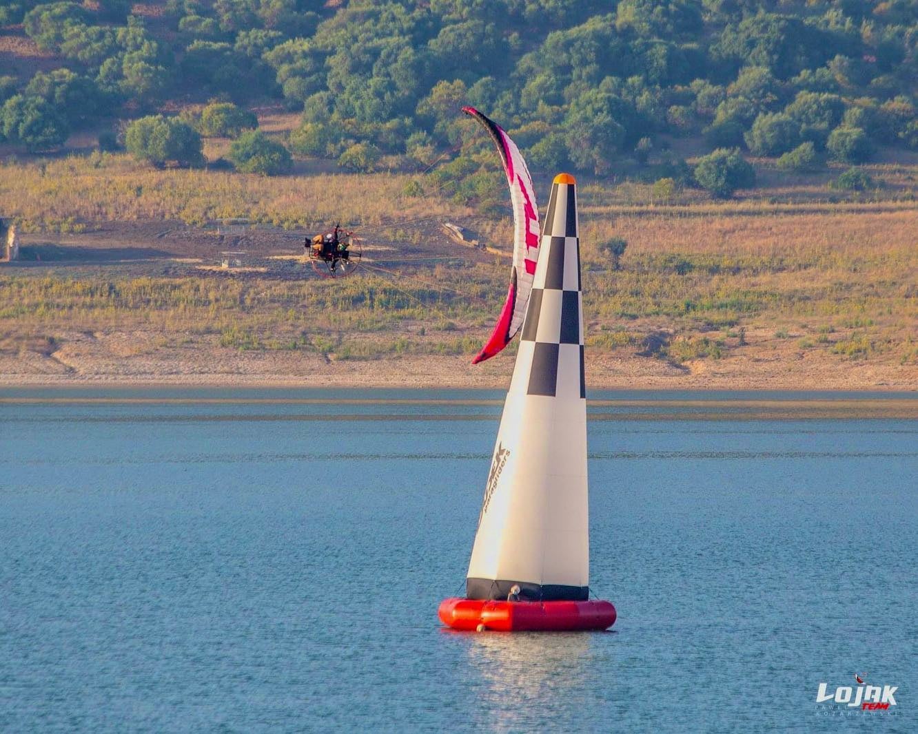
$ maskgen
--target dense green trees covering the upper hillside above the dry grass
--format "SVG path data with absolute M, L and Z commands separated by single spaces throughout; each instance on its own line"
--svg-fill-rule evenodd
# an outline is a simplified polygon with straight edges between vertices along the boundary
M 275 132 L 296 155 L 359 170 L 468 152 L 462 104 L 544 172 L 633 161 L 645 180 L 689 183 L 682 150 L 812 144 L 792 168 L 918 147 L 907 2 L 25 0 L 0 22 L 7 150 L 84 149 L 99 133 L 110 148 L 157 112 L 207 135 L 196 113 L 214 99 L 285 107 L 295 119 Z

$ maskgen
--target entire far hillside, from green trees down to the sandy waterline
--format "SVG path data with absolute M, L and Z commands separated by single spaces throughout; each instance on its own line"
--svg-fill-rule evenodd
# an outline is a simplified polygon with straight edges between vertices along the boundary
M 913 4 L 2 13 L 3 382 L 504 384 L 467 362 L 506 259 L 440 230 L 507 249 L 472 103 L 540 195 L 577 174 L 590 384 L 918 386 Z M 299 256 L 337 221 L 329 282 Z

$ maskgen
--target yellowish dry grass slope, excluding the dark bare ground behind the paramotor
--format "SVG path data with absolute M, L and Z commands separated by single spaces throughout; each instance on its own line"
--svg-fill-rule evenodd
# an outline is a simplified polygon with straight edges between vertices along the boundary
M 33 231 L 111 221 L 201 225 L 239 217 L 310 228 L 339 217 L 373 225 L 472 215 L 435 196 L 403 196 L 409 177 L 397 174 L 265 179 L 154 171 L 108 155 L 0 168 L 0 209 Z M 896 367 L 905 370 L 897 373 L 901 384 L 918 385 L 918 206 L 911 201 L 633 206 L 595 185 L 584 186 L 583 200 L 588 345 L 601 369 L 639 364 L 638 372 L 677 377 L 788 365 L 800 374 L 811 364 L 823 373 Z M 507 217 L 476 224 L 491 242 L 509 240 Z M 416 236 L 393 232 L 394 239 Z M 621 270 L 597 248 L 611 237 L 628 242 Z M 93 339 L 118 364 L 170 350 L 201 361 L 287 353 L 352 369 L 465 360 L 487 335 L 506 278 L 497 261 L 421 265 L 397 282 L 367 270 L 322 282 L 139 267 L 0 272 L 0 373 Z

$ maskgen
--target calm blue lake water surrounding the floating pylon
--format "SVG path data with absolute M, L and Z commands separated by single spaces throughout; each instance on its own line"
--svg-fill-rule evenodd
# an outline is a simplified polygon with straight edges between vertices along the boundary
M 591 397 L 619 620 L 501 635 L 436 616 L 500 392 L 0 390 L 0 730 L 918 730 L 918 421 Z

